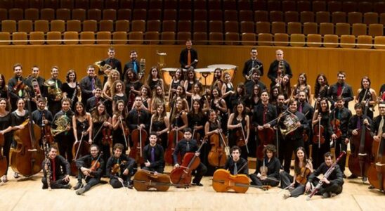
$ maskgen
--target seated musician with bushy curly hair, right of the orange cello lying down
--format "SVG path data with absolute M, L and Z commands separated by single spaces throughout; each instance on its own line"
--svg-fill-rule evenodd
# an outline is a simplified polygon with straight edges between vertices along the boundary
M 278 186 L 280 183 L 280 160 L 276 157 L 277 150 L 272 144 L 268 144 L 263 150 L 265 157 L 263 158 L 264 165 L 258 170 L 256 169 L 254 174 L 250 174 L 252 183 L 257 186 Z

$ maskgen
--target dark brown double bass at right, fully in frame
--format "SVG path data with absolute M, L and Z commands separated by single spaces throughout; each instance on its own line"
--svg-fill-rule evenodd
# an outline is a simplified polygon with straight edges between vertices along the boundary
M 367 115 L 367 109 L 369 108 L 369 100 L 365 103 L 364 115 Z M 358 120 L 360 121 L 360 120 Z M 349 156 L 348 167 L 352 174 L 357 176 L 367 177 L 367 170 L 370 167 L 372 155 L 372 141 L 373 137 L 370 135 L 370 130 L 366 128 L 366 125 L 361 125 L 361 128 L 357 129 L 358 134 L 351 137 L 351 145 L 353 145 L 353 152 Z

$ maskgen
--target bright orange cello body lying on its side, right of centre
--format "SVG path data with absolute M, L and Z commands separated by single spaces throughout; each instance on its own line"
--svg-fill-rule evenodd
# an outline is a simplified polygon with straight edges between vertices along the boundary
M 216 170 L 213 175 L 212 186 L 216 192 L 246 193 L 249 189 L 249 177 L 246 174 L 232 175 L 228 170 Z

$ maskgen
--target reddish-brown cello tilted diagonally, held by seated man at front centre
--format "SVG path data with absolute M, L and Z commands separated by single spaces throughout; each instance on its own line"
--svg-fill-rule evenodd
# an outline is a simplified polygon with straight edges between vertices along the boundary
M 207 137 L 205 136 L 197 153 L 200 152 L 204 143 L 206 143 Z M 200 165 L 200 158 L 195 153 L 185 153 L 183 156 L 182 164 L 171 171 L 170 178 L 173 184 L 191 184 L 191 172 L 193 172 Z

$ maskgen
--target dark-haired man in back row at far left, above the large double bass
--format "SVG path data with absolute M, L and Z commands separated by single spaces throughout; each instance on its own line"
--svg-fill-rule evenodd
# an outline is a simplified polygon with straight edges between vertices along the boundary
M 23 86 L 23 84 L 25 85 L 25 78 L 22 77 L 22 66 L 20 63 L 13 65 L 13 74 L 14 76 L 8 81 L 8 94 L 12 109 L 16 109 L 16 101 L 25 95 Z

